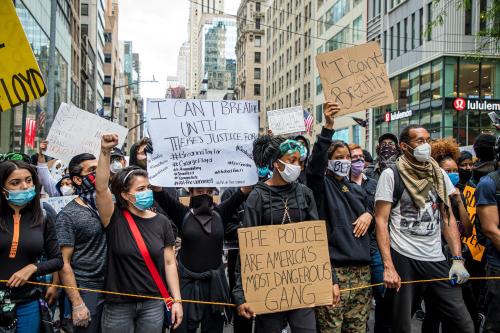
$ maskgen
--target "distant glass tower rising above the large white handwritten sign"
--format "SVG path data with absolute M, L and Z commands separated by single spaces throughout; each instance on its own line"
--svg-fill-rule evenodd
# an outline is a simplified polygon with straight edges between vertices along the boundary
M 203 27 L 203 71 L 208 89 L 234 89 L 236 83 L 236 22 L 214 18 Z

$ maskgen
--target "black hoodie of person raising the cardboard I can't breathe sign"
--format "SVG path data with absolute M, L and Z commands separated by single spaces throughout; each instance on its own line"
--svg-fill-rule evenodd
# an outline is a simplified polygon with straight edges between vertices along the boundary
M 334 131 L 323 128 L 314 145 L 307 168 L 307 184 L 314 192 L 320 220 L 326 220 L 332 267 L 370 263 L 370 235 L 356 238 L 352 223 L 369 212 L 366 194 L 347 178 L 338 181 L 330 172 L 328 148 Z

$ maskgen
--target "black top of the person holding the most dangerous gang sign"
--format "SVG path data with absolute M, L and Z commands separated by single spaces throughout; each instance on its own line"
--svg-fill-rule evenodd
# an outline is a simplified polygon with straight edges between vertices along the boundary
M 301 183 L 292 183 L 284 186 L 269 186 L 264 182 L 255 185 L 254 190 L 247 198 L 243 214 L 243 227 L 281 224 L 285 211 L 285 199 L 290 212 L 291 221 L 318 220 L 318 212 L 312 191 Z M 240 263 L 236 265 L 236 286 L 233 289 L 233 298 L 236 304 L 245 303 L 241 282 Z

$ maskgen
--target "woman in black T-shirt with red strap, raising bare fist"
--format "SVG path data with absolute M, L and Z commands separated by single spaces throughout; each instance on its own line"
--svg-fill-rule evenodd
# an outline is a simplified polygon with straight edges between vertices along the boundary
M 146 171 L 124 168 L 115 174 L 109 189 L 111 149 L 117 144 L 118 135 L 102 136 L 96 170 L 96 203 L 108 245 L 105 290 L 146 296 L 159 296 L 160 290 L 168 300 L 106 295 L 102 331 L 162 332 L 165 306 L 171 308 L 167 324 L 175 329 L 183 314 L 174 233 L 164 215 L 149 210 L 154 200 Z

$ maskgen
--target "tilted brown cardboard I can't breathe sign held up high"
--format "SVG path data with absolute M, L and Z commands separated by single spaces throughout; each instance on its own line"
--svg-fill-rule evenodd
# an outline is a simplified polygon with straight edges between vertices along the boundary
M 343 115 L 394 103 L 384 57 L 377 42 L 316 56 L 326 101 Z

